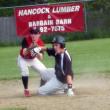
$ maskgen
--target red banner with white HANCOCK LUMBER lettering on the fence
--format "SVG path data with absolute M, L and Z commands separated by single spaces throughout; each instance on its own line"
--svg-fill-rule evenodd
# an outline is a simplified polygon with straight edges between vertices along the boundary
M 18 36 L 28 34 L 30 27 L 38 27 L 42 33 L 84 31 L 82 3 L 18 7 L 15 17 Z

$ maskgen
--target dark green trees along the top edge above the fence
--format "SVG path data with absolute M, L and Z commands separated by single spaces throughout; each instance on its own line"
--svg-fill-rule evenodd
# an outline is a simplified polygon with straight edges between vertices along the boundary
M 13 9 L 12 8 L 5 9 L 5 7 L 35 5 L 35 4 L 43 4 L 43 3 L 59 3 L 59 2 L 68 2 L 68 1 L 79 1 L 79 0 L 0 0 L 0 7 L 2 7 L 0 8 L 0 16 L 13 15 Z M 90 2 L 86 2 L 87 10 L 109 12 L 110 9 L 109 0 L 88 0 L 88 1 Z

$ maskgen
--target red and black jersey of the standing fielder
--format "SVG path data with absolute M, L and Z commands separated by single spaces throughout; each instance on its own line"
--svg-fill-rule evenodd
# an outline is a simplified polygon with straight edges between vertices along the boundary
M 26 56 L 23 55 L 23 49 L 24 48 L 29 48 L 30 45 L 32 44 L 32 38 L 29 36 L 29 37 L 25 37 L 23 40 L 22 40 L 22 43 L 21 43 L 21 50 L 20 50 L 20 55 L 25 58 L 25 59 L 33 59 L 35 56 L 31 56 L 31 53 L 29 52 Z M 37 41 L 36 41 L 36 45 L 37 46 L 44 46 L 44 42 L 39 38 Z

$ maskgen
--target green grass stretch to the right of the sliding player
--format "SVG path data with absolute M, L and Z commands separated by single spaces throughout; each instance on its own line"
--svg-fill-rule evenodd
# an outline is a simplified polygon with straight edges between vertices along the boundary
M 110 73 L 109 45 L 110 39 L 69 43 L 75 73 Z

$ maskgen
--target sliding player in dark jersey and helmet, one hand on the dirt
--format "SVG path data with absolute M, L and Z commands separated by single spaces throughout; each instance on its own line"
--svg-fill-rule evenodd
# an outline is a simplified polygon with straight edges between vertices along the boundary
M 46 74 L 46 78 L 48 78 L 47 80 L 42 78 L 46 83 L 38 89 L 38 94 L 52 94 L 64 89 L 67 85 L 67 95 L 74 96 L 74 92 L 72 90 L 72 60 L 65 48 L 65 39 L 62 36 L 54 37 L 52 46 L 52 48 L 42 48 L 42 50 L 46 51 L 49 56 L 53 56 L 55 58 L 55 68 Z

